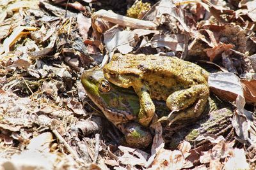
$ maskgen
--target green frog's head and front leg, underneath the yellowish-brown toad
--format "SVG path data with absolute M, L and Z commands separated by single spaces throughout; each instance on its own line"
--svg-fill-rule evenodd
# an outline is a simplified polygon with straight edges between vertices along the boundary
M 150 131 L 136 122 L 140 101 L 133 89 L 109 83 L 104 78 L 102 69 L 84 71 L 81 81 L 93 103 L 125 135 L 128 146 L 145 148 L 151 143 Z

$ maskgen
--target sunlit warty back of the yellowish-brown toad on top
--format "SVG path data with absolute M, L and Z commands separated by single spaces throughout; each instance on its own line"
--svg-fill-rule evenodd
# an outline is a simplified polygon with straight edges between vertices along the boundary
M 113 60 L 118 60 L 120 74 L 133 73 L 143 80 L 158 81 L 163 84 L 170 84 L 170 81 L 179 81 L 188 86 L 194 83 L 202 84 L 207 82 L 209 76 L 202 67 L 177 57 L 127 54 L 118 55 Z

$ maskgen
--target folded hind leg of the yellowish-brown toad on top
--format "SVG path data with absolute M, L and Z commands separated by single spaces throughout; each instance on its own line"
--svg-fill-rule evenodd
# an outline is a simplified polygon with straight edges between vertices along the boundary
M 189 89 L 173 92 L 166 100 L 166 105 L 174 111 L 168 120 L 188 120 L 200 117 L 204 112 L 209 97 L 207 85 L 194 85 Z

